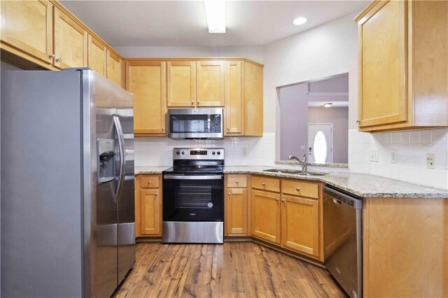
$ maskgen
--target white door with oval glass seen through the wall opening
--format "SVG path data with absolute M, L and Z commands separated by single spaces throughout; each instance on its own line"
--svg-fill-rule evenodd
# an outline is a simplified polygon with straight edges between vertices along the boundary
M 308 162 L 333 162 L 332 124 L 308 123 Z

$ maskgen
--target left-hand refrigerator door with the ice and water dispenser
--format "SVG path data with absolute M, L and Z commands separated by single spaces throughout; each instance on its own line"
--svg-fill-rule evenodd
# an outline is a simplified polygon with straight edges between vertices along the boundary
M 82 78 L 85 297 L 110 297 L 118 286 L 118 208 L 115 198 L 118 178 L 99 180 L 98 166 L 100 162 L 119 162 L 118 139 L 113 122 L 116 114 L 113 104 L 115 85 L 94 71 L 82 71 Z M 112 159 L 99 160 L 100 140 L 113 140 L 111 144 L 115 148 L 107 150 L 115 151 Z M 116 169 L 117 166 L 112 168 Z

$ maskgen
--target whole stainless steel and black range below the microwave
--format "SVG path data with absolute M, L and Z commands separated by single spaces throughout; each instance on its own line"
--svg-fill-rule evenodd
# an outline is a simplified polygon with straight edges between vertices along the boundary
M 223 243 L 224 149 L 174 148 L 163 171 L 165 243 Z

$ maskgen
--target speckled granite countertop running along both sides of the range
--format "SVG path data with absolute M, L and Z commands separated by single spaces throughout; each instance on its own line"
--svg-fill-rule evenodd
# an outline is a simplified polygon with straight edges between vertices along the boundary
M 168 169 L 169 167 L 170 166 L 139 166 L 135 168 L 135 174 L 160 174 L 163 170 Z M 328 170 L 328 174 L 325 176 L 310 177 L 290 173 L 270 173 L 263 171 L 272 168 L 275 168 L 275 166 L 225 166 L 224 173 L 258 174 L 278 178 L 319 181 L 363 198 L 448 198 L 448 190 L 415 185 L 363 173 Z M 297 167 L 279 167 L 279 169 L 297 169 Z

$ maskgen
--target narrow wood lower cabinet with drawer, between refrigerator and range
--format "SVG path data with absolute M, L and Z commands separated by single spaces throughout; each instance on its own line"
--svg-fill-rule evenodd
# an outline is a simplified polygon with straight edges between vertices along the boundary
M 162 236 L 162 177 L 136 178 L 135 236 Z

